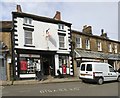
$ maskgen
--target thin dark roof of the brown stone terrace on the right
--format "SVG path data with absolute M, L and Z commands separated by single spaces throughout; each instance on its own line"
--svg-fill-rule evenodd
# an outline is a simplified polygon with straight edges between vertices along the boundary
M 108 39 L 108 38 L 104 38 L 102 36 L 86 34 L 86 33 L 83 33 L 83 32 L 77 31 L 77 30 L 73 30 L 73 29 L 71 31 L 72 31 L 72 33 L 77 33 L 79 35 L 85 35 L 85 36 L 89 36 L 89 37 L 94 37 L 94 38 L 99 38 L 99 39 L 103 39 L 103 40 L 108 40 L 108 41 L 120 43 L 120 41 L 111 40 L 111 39 Z

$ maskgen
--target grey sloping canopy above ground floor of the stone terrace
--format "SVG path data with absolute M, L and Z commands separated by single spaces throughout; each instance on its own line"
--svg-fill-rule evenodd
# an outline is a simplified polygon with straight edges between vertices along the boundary
M 76 58 L 95 58 L 95 59 L 120 60 L 120 54 L 108 54 L 108 53 L 78 50 L 78 49 L 75 49 L 75 53 L 77 54 Z

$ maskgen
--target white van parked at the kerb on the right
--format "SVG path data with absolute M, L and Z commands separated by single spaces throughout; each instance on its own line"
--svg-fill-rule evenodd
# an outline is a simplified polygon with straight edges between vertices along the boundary
M 120 73 L 107 63 L 84 62 L 80 65 L 79 78 L 83 81 L 93 80 L 98 84 L 104 81 L 117 80 L 120 82 Z

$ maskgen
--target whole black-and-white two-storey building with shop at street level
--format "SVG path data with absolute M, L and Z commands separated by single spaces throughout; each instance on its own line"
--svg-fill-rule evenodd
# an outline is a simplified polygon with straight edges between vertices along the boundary
M 35 63 L 40 60 L 44 75 L 57 76 L 57 71 L 73 76 L 71 23 L 21 11 L 13 16 L 14 79 L 34 78 Z

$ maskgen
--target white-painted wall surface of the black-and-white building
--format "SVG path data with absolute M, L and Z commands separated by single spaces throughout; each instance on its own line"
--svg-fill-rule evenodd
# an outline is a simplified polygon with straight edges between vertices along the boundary
M 29 17 L 28 17 L 29 18 Z M 32 18 L 31 18 L 32 19 Z M 43 22 L 33 19 L 31 25 L 24 24 L 24 17 L 16 17 L 13 18 L 14 22 L 14 32 L 15 35 L 15 46 L 14 51 L 16 54 L 17 49 L 25 49 L 25 50 L 34 50 L 34 51 L 55 51 L 56 54 L 54 55 L 55 61 L 55 75 L 57 74 L 57 70 L 59 69 L 62 72 L 62 69 L 59 68 L 59 55 L 68 55 L 68 64 L 69 67 L 66 68 L 67 74 L 73 75 L 73 65 L 70 62 L 72 58 L 70 57 L 71 52 L 71 43 L 70 43 L 70 27 L 64 24 L 64 32 L 62 30 L 58 30 L 57 23 L 50 23 L 50 22 Z M 25 46 L 25 29 L 30 28 L 33 29 L 32 31 L 32 45 Z M 49 30 L 48 30 L 49 29 Z M 46 30 L 49 32 L 49 36 L 47 37 Z M 64 49 L 60 49 L 59 47 L 59 34 L 65 35 L 65 43 Z M 17 39 L 17 40 L 16 40 Z M 17 44 L 17 45 L 16 45 Z M 33 47 L 32 47 L 33 46 Z M 17 66 L 17 65 L 16 65 Z M 17 74 L 16 74 L 17 75 Z M 25 75 L 26 76 L 26 75 Z M 30 77 L 30 75 L 29 75 Z

